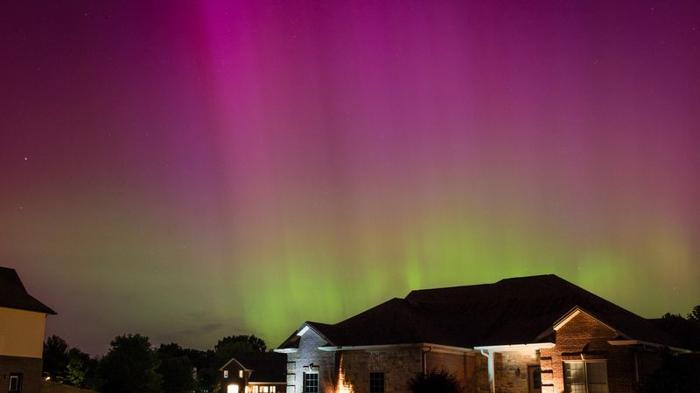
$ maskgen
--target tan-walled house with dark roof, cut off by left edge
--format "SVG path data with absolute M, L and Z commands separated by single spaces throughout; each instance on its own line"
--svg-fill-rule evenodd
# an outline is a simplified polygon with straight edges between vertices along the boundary
M 0 392 L 39 393 L 46 316 L 14 269 L 0 267 Z

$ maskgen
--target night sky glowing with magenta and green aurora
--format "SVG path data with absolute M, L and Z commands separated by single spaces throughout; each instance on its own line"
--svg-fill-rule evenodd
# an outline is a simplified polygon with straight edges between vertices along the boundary
M 700 303 L 700 2 L 0 6 L 0 265 L 102 353 L 556 273 Z

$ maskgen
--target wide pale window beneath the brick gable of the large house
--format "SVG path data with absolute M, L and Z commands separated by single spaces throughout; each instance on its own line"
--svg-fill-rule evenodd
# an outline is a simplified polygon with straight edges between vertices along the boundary
M 564 387 L 567 393 L 608 393 L 608 368 L 605 360 L 564 362 Z

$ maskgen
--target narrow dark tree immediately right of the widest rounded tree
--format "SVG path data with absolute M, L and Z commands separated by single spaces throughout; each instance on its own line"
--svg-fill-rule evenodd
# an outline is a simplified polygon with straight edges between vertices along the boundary
M 195 388 L 195 380 L 192 376 L 194 366 L 185 350 L 175 343 L 161 344 L 156 353 L 160 360 L 158 373 L 163 377 L 163 391 L 191 392 Z

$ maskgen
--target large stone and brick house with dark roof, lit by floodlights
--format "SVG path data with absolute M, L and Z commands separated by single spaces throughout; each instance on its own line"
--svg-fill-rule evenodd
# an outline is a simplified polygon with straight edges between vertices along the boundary
M 287 393 L 400 393 L 445 370 L 465 392 L 631 393 L 662 351 L 690 352 L 555 275 L 412 291 L 342 322 L 304 323 L 277 352 Z

